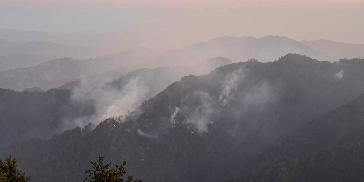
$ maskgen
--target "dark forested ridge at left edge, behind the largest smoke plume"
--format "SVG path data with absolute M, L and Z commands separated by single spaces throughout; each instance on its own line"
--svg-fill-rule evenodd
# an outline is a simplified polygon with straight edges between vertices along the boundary
M 29 138 L 50 138 L 64 131 L 70 118 L 94 114 L 93 105 L 71 99 L 71 92 L 48 90 L 46 92 L 19 92 L 0 89 L 0 145 Z M 77 125 L 77 124 L 76 124 Z

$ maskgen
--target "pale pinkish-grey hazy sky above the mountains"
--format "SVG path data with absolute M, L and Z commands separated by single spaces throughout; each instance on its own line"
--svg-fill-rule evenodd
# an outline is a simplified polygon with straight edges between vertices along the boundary
M 0 0 L 0 29 L 125 32 L 139 45 L 284 35 L 364 44 L 364 0 Z

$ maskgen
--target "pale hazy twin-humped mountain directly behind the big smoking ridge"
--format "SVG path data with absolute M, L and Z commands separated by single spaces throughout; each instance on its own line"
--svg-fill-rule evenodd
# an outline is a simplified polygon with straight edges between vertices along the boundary
M 250 58 L 258 59 L 260 62 L 269 62 L 277 60 L 287 53 L 302 54 L 321 61 L 337 61 L 340 59 L 340 57 L 314 50 L 284 36 L 264 36 L 259 39 L 255 37 L 221 36 L 180 50 L 168 51 L 143 64 L 149 67 L 194 66 L 198 64 L 197 60 L 206 60 L 217 56 L 229 58 L 233 62 L 246 61 Z

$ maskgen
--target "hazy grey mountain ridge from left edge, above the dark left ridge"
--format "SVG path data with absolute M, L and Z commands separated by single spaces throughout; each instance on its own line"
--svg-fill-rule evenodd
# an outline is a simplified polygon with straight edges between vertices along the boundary
M 72 58 L 49 60 L 32 67 L 0 71 L 0 88 L 21 91 L 29 87 L 39 87 L 48 90 L 73 80 L 98 74 L 104 76 L 104 78 L 100 78 L 105 80 L 99 84 L 102 85 L 120 78 L 121 75 L 133 69 L 133 64 L 140 63 L 146 57 L 152 57 L 154 54 L 154 51 L 141 49 L 87 60 Z

